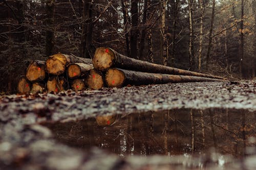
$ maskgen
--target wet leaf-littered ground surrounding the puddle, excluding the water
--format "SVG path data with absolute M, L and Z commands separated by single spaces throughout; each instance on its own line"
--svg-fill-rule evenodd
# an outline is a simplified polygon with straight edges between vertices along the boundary
M 173 165 L 169 165 L 169 158 L 161 156 L 136 162 L 133 158 L 107 156 L 98 149 L 82 153 L 58 143 L 52 132 L 40 124 L 69 122 L 101 114 L 176 108 L 233 108 L 254 112 L 256 81 L 177 83 L 0 96 L 0 169 L 142 169 L 148 166 L 165 169 Z M 256 156 L 248 159 L 256 160 Z M 149 165 L 148 162 L 153 160 Z M 187 161 L 189 164 L 195 160 Z M 241 166 L 230 169 L 240 169 Z M 254 161 L 246 169 L 255 167 Z

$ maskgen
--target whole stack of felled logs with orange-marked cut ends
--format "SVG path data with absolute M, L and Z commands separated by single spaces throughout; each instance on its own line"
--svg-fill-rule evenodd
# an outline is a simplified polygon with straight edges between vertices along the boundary
M 69 88 L 78 91 L 104 86 L 226 80 L 219 76 L 136 60 L 111 48 L 99 47 L 93 60 L 59 53 L 46 61 L 32 61 L 26 76 L 18 83 L 18 92 L 59 92 Z

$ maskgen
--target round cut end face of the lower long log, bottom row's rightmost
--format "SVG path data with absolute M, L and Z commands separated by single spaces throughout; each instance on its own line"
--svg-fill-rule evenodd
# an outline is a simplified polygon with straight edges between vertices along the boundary
M 124 84 L 124 74 L 121 70 L 110 68 L 106 71 L 106 85 L 108 87 L 122 87 Z

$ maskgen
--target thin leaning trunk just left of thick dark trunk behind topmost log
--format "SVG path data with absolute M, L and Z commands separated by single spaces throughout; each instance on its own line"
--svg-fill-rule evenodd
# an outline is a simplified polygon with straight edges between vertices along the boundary
M 129 33 L 128 33 L 128 25 L 129 25 L 129 18 L 128 18 L 128 9 L 127 9 L 127 0 L 121 0 L 122 4 L 122 11 L 123 11 L 123 21 L 124 21 L 124 32 L 125 32 L 125 43 L 126 43 L 126 53 L 128 57 L 131 57 L 130 52 L 130 41 L 129 41 Z

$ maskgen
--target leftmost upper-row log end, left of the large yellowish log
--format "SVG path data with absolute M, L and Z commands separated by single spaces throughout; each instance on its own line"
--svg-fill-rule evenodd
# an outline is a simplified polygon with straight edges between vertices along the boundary
M 45 61 L 34 60 L 27 69 L 26 77 L 31 82 L 43 81 L 46 78 Z

